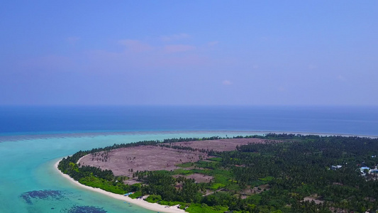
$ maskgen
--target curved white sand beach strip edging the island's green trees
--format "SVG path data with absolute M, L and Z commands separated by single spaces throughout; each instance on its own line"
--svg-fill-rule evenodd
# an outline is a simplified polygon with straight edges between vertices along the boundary
M 60 160 L 58 160 L 57 163 L 54 164 L 54 168 L 57 170 L 57 172 L 60 173 L 60 175 L 62 175 L 63 178 L 69 180 L 70 182 L 72 182 L 72 184 L 77 185 L 78 187 L 82 187 L 84 189 L 91 190 L 91 191 L 94 191 L 94 192 L 99 192 L 103 195 L 113 197 L 117 200 L 129 202 L 130 204 L 135 204 L 138 207 L 143 207 L 145 209 L 149 209 L 149 210 L 156 211 L 156 212 L 165 212 L 165 213 L 184 213 L 185 212 L 182 209 L 178 209 L 177 206 L 167 207 L 167 206 L 163 206 L 163 205 L 160 205 L 160 204 L 157 204 L 157 203 L 150 203 L 150 202 L 147 202 L 145 200 L 140 200 L 140 199 L 138 199 L 138 200 L 137 199 L 131 199 L 130 197 L 118 195 L 118 194 L 115 194 L 115 193 L 112 193 L 112 192 L 106 192 L 105 190 L 101 190 L 99 188 L 94 188 L 94 187 L 89 187 L 87 185 L 82 185 L 78 181 L 71 178 L 70 175 L 62 173 L 57 168 L 57 165 L 59 163 L 60 163 Z

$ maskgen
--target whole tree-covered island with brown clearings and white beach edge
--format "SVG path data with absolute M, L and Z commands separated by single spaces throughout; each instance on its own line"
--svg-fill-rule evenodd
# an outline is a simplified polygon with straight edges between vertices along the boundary
M 158 212 L 375 212 L 378 139 L 268 133 L 78 151 L 78 185 Z

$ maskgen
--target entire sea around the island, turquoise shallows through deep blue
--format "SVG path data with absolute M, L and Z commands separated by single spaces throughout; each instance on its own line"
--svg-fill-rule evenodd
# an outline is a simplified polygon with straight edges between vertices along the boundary
M 378 136 L 378 107 L 0 107 L 0 213 L 152 213 L 54 164 L 114 143 L 268 132 Z

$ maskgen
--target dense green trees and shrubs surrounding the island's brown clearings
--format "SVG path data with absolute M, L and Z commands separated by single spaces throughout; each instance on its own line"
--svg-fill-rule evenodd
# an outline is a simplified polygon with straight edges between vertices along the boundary
M 88 153 L 114 148 L 157 146 L 157 143 L 183 148 L 171 143 L 218 137 L 115 144 L 79 151 L 64 158 L 58 168 L 85 185 L 118 194 L 136 192 L 133 197 L 150 195 L 148 202 L 181 204 L 188 212 L 375 212 L 378 209 L 377 178 L 364 177 L 359 169 L 377 165 L 378 139 L 275 133 L 246 138 L 265 138 L 267 143 L 250 143 L 238 146 L 237 151 L 222 153 L 202 150 L 213 157 L 180 165 L 185 169 L 136 171 L 134 177 L 143 185 L 124 185 L 126 177 L 115 177 L 110 170 L 80 167 L 77 160 Z M 330 170 L 331 165 L 342 167 Z M 196 183 L 183 176 L 172 177 L 194 173 L 212 176 L 213 180 Z M 305 199 L 308 197 L 314 201 Z

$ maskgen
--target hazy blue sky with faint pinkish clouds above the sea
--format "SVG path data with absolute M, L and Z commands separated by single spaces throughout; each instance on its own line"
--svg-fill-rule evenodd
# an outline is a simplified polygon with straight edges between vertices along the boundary
M 0 104 L 378 105 L 378 1 L 4 1 Z

